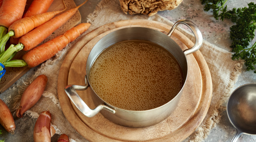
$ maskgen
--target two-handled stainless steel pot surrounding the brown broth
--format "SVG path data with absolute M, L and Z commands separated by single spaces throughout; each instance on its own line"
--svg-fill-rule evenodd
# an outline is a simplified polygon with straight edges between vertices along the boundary
M 173 31 L 179 24 L 184 24 L 188 26 L 193 31 L 194 36 L 196 37 L 195 45 L 192 48 L 187 49 L 185 51 L 182 51 L 179 45 L 169 37 L 172 35 Z M 108 48 L 110 45 L 113 45 L 114 43 L 130 39 L 141 39 L 151 41 L 157 43 L 158 45 L 162 46 L 163 48 L 171 52 L 171 54 L 174 55 L 174 57 L 177 59 L 182 68 L 182 72 L 184 75 L 184 85 L 187 80 L 188 72 L 186 55 L 197 51 L 202 45 L 203 41 L 200 30 L 197 28 L 197 26 L 195 26 L 193 22 L 189 20 L 179 20 L 178 22 L 176 22 L 167 35 L 154 29 L 141 27 L 119 29 L 107 34 L 102 39 L 100 39 L 100 41 L 97 42 L 96 45 L 94 45 L 87 59 L 86 72 L 90 72 L 93 62 L 104 49 Z M 85 85 L 83 86 L 68 85 L 65 87 L 65 91 L 68 94 L 69 99 L 75 104 L 75 106 L 87 117 L 93 117 L 94 115 L 100 112 L 104 117 L 118 125 L 133 128 L 151 126 L 166 119 L 178 106 L 179 99 L 184 89 L 183 85 L 181 91 L 179 91 L 179 93 L 177 94 L 177 96 L 174 97 L 174 99 L 170 100 L 168 103 L 160 107 L 150 110 L 132 111 L 120 109 L 118 107 L 106 103 L 94 92 L 93 87 L 90 87 L 93 102 L 97 106 L 95 109 L 90 109 L 84 103 L 84 101 L 82 101 L 82 99 L 75 91 L 87 89 L 90 85 L 89 78 L 90 76 L 85 76 Z

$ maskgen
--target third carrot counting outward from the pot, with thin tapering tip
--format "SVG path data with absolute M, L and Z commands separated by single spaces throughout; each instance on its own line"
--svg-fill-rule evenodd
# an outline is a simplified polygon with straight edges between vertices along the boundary
M 19 37 L 25 35 L 26 33 L 28 33 L 29 31 L 33 30 L 34 28 L 49 21 L 55 15 L 63 12 L 64 10 L 35 14 L 33 16 L 19 19 L 19 20 L 13 22 L 12 25 L 10 25 L 8 30 L 14 31 L 14 36 L 12 36 L 13 38 L 19 38 Z

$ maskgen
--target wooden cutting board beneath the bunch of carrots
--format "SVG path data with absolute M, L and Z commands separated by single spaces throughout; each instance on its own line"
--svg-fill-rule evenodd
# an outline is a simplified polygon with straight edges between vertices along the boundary
M 32 0 L 27 0 L 26 9 L 29 7 L 29 5 L 32 3 Z M 73 0 L 54 0 L 51 6 L 49 7 L 48 11 L 56 11 L 56 10 L 66 10 L 75 8 L 75 2 Z M 55 38 L 56 36 L 62 35 L 66 32 L 66 30 L 69 30 L 73 28 L 74 26 L 81 23 L 81 15 L 77 11 L 64 25 L 62 25 L 59 29 L 53 32 L 49 37 L 47 37 L 42 43 L 45 43 L 49 41 L 50 39 Z M 41 43 L 41 44 L 42 44 Z M 22 55 L 25 53 L 25 51 L 19 51 L 18 54 L 15 56 L 15 59 L 21 59 Z M 36 68 L 36 67 L 35 67 Z M 1 78 L 0 81 L 0 93 L 5 91 L 7 88 L 9 88 L 13 83 L 15 83 L 22 75 L 24 75 L 30 68 L 28 67 L 8 67 L 6 68 L 6 73 Z

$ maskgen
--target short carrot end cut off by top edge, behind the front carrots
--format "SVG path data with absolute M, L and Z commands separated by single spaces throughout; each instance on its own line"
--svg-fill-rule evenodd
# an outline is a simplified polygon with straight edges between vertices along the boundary
M 47 12 L 52 2 L 53 0 L 33 0 L 23 18 Z

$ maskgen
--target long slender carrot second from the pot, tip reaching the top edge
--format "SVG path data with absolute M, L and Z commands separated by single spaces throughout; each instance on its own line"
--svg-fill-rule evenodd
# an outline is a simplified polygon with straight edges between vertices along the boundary
M 87 1 L 87 0 L 86 0 Z M 85 1 L 85 2 L 86 2 Z M 84 2 L 84 3 L 85 3 Z M 44 39 L 46 39 L 51 33 L 53 33 L 56 29 L 62 26 L 68 19 L 75 14 L 79 7 L 81 7 L 84 3 L 79 5 L 74 9 L 70 9 L 48 22 L 44 23 L 41 26 L 38 26 L 34 30 L 26 33 L 19 39 L 19 42 L 24 45 L 24 51 L 30 50 L 41 43 Z

